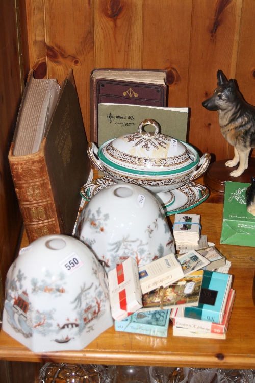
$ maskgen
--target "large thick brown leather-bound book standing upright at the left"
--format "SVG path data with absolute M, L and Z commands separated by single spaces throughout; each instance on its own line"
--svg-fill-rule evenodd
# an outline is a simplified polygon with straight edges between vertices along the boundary
M 79 190 L 88 178 L 87 139 L 72 70 L 57 95 L 56 84 L 34 79 L 30 71 L 8 156 L 29 242 L 72 234 Z

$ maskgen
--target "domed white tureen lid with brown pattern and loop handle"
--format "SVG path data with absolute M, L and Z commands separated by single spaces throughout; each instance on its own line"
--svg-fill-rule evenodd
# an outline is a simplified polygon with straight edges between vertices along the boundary
M 142 128 L 152 125 L 154 132 Z M 139 124 L 138 132 L 111 139 L 100 146 L 98 157 L 111 167 L 131 169 L 135 172 L 173 171 L 188 169 L 198 163 L 198 153 L 190 145 L 159 133 L 159 125 L 153 119 Z

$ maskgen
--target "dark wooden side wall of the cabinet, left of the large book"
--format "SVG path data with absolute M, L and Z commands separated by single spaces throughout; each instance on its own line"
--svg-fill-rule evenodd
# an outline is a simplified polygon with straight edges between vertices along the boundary
M 14 2 L 0 1 L 0 313 L 6 273 L 19 245 L 22 225 L 8 163 L 21 101 L 20 52 Z M 1 318 L 1 314 L 0 314 Z

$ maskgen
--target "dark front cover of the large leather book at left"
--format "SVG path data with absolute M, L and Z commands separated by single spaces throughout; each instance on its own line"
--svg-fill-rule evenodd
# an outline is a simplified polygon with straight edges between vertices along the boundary
M 46 132 L 47 151 L 56 200 L 65 228 L 72 234 L 81 204 L 80 188 L 88 179 L 87 138 L 77 90 L 66 78 L 61 86 L 53 117 Z M 51 183 L 53 180 L 51 180 Z

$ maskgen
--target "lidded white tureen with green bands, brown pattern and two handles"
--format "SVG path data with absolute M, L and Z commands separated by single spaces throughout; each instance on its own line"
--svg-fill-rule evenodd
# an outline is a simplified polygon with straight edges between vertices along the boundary
M 154 132 L 143 130 L 148 124 Z M 156 193 L 161 203 L 168 204 L 174 198 L 170 190 L 200 177 L 210 162 L 210 154 L 200 159 L 189 143 L 160 134 L 159 125 L 152 119 L 142 121 L 138 133 L 110 139 L 99 149 L 90 142 L 88 155 L 98 169 L 116 182 L 143 186 Z

